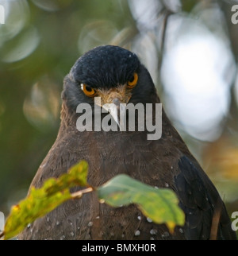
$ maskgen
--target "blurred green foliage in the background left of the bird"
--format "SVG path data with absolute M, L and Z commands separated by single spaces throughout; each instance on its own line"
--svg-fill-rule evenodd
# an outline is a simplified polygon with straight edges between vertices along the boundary
M 121 30 L 135 29 L 125 0 L 54 1 L 52 11 L 46 7 L 54 4 L 41 1 L 42 9 L 37 2 L 16 1 L 0 27 L 0 209 L 6 213 L 24 196 L 56 139 L 60 91 L 72 64 L 89 48 L 109 44 Z M 20 31 L 6 40 L 21 22 Z M 29 29 L 39 37 L 35 50 L 21 60 L 5 60 L 20 43 L 26 48 L 21 51 L 31 47 L 33 35 L 24 38 Z

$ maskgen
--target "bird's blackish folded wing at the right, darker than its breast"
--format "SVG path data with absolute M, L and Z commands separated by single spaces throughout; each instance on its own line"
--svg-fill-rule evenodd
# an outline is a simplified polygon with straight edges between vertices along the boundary
M 186 214 L 186 239 L 236 239 L 225 205 L 193 157 L 178 161 L 175 189 Z

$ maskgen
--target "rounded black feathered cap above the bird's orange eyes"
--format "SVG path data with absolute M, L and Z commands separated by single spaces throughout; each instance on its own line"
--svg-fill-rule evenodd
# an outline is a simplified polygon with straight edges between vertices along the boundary
M 86 52 L 71 68 L 71 80 L 91 87 L 116 87 L 131 79 L 140 66 L 136 54 L 113 45 Z

